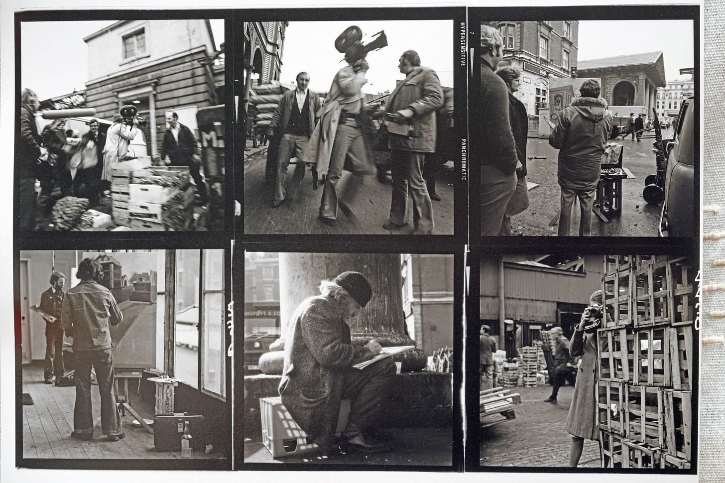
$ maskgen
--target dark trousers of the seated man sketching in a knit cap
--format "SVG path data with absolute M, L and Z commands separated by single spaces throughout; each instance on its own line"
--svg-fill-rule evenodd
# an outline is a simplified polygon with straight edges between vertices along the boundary
M 350 415 L 344 434 L 355 436 L 355 432 L 379 426 L 379 414 L 389 400 L 389 378 L 395 374 L 395 363 L 386 358 L 370 364 L 363 370 L 351 369 L 347 375 L 347 387 L 343 399 L 350 400 Z

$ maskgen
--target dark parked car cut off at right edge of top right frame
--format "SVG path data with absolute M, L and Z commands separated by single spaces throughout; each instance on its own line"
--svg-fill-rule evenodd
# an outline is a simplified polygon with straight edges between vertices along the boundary
M 695 228 L 695 97 L 682 103 L 674 138 L 663 140 L 667 156 L 660 236 L 692 236 Z

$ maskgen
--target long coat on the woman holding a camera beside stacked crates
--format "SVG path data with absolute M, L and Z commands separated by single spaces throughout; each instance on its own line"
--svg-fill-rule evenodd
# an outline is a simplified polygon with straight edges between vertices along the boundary
M 596 395 L 600 373 L 596 334 L 586 334 L 574 329 L 571 336 L 571 355 L 581 355 L 581 365 L 576 374 L 574 394 L 566 418 L 566 431 L 580 438 L 599 439 Z

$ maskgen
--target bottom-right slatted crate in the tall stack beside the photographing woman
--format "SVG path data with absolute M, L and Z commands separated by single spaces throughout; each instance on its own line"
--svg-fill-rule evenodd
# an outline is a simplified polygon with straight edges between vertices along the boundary
M 664 390 L 666 452 L 690 461 L 692 455 L 692 392 Z

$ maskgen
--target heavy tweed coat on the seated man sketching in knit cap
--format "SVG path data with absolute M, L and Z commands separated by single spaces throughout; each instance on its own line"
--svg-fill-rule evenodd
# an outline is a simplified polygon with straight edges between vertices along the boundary
M 328 453 L 334 446 L 340 400 L 352 365 L 373 358 L 350 343 L 350 328 L 337 302 L 318 295 L 291 316 L 284 345 L 279 395 L 294 421 Z

